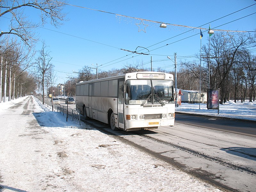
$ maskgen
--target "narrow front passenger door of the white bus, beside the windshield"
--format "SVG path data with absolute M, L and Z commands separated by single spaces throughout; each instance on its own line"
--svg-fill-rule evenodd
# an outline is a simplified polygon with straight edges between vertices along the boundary
M 118 126 L 119 128 L 124 129 L 124 79 L 118 80 L 117 112 Z

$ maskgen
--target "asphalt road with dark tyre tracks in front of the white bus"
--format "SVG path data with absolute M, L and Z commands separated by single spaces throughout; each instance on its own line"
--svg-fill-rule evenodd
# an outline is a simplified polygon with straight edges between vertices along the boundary
M 173 127 L 136 132 L 85 122 L 217 188 L 255 191 L 255 122 L 177 114 Z

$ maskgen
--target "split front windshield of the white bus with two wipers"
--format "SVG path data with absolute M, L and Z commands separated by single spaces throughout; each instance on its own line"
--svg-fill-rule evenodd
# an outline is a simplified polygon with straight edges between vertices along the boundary
M 173 93 L 173 81 L 170 80 L 127 80 L 125 90 L 125 104 L 165 105 L 174 103 Z

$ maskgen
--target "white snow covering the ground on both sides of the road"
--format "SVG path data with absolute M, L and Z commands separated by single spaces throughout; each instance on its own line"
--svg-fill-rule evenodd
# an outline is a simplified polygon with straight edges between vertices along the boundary
M 229 102 L 217 115 L 205 104 L 182 103 L 176 111 L 256 120 L 255 105 Z M 220 191 L 83 122 L 66 122 L 34 97 L 0 103 L 0 119 L 3 192 Z

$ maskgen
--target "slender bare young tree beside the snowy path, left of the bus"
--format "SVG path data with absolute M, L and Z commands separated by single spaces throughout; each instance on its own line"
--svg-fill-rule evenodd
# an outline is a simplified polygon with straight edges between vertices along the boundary
M 35 62 L 35 72 L 37 74 L 39 82 L 42 84 L 43 96 L 44 96 L 44 83 L 47 72 L 52 69 L 53 65 L 51 63 L 52 57 L 50 57 L 50 51 L 46 49 L 44 41 L 42 42 L 42 49 L 39 51 L 39 56 L 36 58 Z M 44 104 L 44 97 L 43 97 Z

